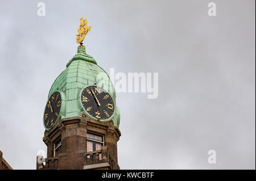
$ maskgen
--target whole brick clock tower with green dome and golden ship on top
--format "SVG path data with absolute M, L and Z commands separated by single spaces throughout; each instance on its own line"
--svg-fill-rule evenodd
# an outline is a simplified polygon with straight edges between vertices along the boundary
M 56 78 L 42 116 L 47 158 L 36 169 L 119 169 L 120 113 L 106 72 L 82 45 L 90 26 L 80 19 L 77 54 Z

